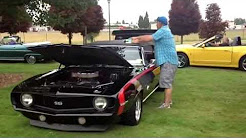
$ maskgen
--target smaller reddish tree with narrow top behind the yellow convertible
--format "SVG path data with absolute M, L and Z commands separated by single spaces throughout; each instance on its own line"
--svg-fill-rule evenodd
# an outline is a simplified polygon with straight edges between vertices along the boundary
M 200 24 L 200 38 L 210 38 L 214 35 L 225 32 L 228 27 L 227 22 L 222 22 L 221 11 L 216 3 L 209 4 L 206 9 L 206 20 Z

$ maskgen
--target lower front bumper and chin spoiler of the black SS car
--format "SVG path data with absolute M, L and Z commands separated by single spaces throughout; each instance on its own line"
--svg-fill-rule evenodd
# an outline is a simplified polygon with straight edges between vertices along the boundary
M 113 113 L 97 114 L 50 114 L 27 109 L 16 108 L 24 116 L 30 119 L 30 124 L 36 127 L 60 130 L 60 131 L 106 131 L 113 120 Z M 40 120 L 40 116 L 45 116 L 45 121 Z M 86 119 L 86 123 L 81 125 L 78 122 L 80 117 Z

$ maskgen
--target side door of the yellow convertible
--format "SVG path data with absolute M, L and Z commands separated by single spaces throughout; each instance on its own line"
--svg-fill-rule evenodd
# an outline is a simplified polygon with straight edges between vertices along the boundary
M 192 51 L 193 61 L 196 65 L 223 66 L 232 62 L 232 47 L 213 46 L 197 47 Z

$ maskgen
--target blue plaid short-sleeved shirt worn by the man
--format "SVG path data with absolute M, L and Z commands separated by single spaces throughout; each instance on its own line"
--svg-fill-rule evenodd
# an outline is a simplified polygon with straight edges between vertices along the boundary
M 173 34 L 168 26 L 163 26 L 152 35 L 155 42 L 155 59 L 158 66 L 170 63 L 178 65 L 178 56 Z

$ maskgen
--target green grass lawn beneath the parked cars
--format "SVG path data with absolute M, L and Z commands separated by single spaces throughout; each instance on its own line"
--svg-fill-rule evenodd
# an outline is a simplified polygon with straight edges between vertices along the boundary
M 0 73 L 28 78 L 58 64 L 0 63 Z M 61 132 L 36 128 L 15 112 L 10 92 L 0 88 L 0 137 L 246 137 L 246 73 L 235 69 L 189 67 L 177 72 L 173 108 L 160 110 L 163 93 L 144 104 L 141 123 L 114 124 L 106 132 Z

